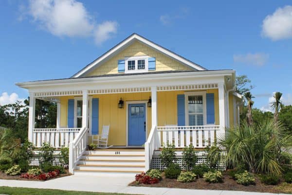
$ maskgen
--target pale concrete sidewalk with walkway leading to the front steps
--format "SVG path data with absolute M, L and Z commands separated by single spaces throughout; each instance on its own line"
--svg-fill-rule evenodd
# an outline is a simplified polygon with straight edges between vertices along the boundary
M 275 195 L 222 190 L 188 190 L 178 188 L 133 187 L 133 177 L 69 176 L 49 181 L 23 181 L 0 179 L 0 186 L 73 190 L 87 192 L 124 193 L 140 195 Z M 0 192 L 1 194 L 1 192 Z M 284 195 L 284 194 L 280 194 Z

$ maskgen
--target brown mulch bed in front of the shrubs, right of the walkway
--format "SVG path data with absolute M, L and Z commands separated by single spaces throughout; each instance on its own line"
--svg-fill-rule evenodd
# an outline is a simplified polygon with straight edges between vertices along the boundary
M 129 186 L 146 186 L 146 187 L 166 187 L 166 188 L 184 188 L 197 190 L 232 190 L 246 192 L 267 192 L 267 193 L 292 193 L 292 189 L 279 189 L 279 186 L 264 185 L 256 178 L 256 185 L 243 186 L 230 178 L 226 173 L 223 173 L 223 183 L 208 183 L 204 178 L 198 178 L 191 183 L 181 183 L 176 179 L 164 178 L 156 184 L 136 184 L 136 181 L 129 183 Z M 290 188 L 290 186 L 289 186 Z M 292 188 L 292 187 L 291 187 Z

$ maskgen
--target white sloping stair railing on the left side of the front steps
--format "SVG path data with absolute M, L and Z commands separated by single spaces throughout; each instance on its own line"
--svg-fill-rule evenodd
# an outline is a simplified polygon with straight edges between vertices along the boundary
M 73 174 L 77 161 L 82 156 L 87 147 L 88 128 L 83 127 L 77 134 L 73 142 L 69 144 L 69 172 Z

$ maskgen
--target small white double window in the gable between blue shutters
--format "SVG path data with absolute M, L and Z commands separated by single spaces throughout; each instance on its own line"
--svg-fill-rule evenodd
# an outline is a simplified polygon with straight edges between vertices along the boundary
M 125 73 L 148 71 L 148 56 L 134 56 L 125 58 Z

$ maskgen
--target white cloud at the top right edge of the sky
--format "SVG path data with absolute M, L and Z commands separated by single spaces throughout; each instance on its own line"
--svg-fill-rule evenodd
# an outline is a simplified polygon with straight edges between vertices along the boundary
M 262 24 L 262 35 L 272 40 L 292 38 L 292 6 L 278 8 Z

